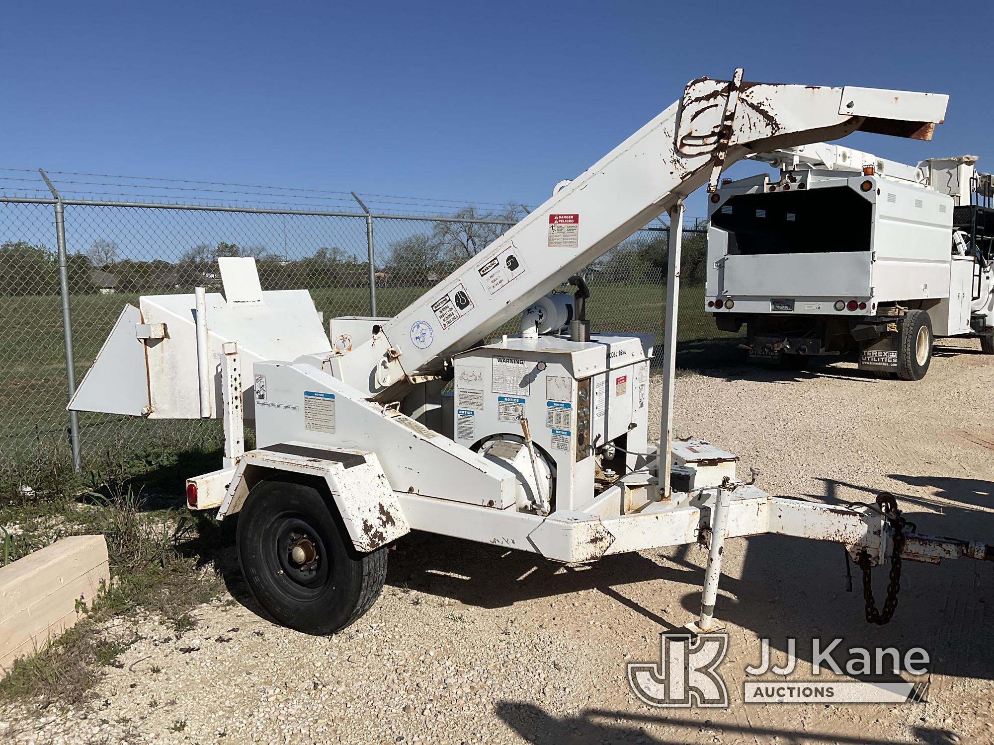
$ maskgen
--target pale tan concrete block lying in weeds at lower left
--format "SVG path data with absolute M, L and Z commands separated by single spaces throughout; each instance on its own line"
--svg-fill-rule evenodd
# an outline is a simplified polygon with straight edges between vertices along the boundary
M 0 677 L 76 624 L 76 602 L 88 607 L 109 582 L 102 535 L 63 538 L 0 568 Z

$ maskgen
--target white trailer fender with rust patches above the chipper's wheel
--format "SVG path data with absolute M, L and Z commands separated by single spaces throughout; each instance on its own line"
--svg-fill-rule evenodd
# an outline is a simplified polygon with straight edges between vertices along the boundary
M 411 531 L 376 453 L 286 442 L 249 451 L 218 511 L 224 520 L 242 510 L 251 488 L 278 472 L 324 480 L 356 550 L 367 553 Z

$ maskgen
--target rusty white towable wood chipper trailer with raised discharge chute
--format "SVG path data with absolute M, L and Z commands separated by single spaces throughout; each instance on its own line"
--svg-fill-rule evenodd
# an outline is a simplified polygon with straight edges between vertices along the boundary
M 902 559 L 991 559 L 919 535 L 897 503 L 771 497 L 737 456 L 672 438 L 683 198 L 725 165 L 856 130 L 928 139 L 946 96 L 701 78 L 521 223 L 394 318 L 335 318 L 306 290 L 263 291 L 252 259 L 219 259 L 224 292 L 126 306 L 70 408 L 224 420 L 223 467 L 187 482 L 192 509 L 238 514 L 259 604 L 328 634 L 376 600 L 411 530 L 562 562 L 705 543 L 696 628 L 716 628 L 729 537 L 843 543 L 869 576 Z M 592 330 L 580 269 L 669 212 L 662 439 L 648 436 L 649 337 Z M 554 293 L 572 279 L 573 293 Z M 552 293 L 552 294 L 550 294 Z M 515 316 L 521 333 L 485 343 Z M 246 451 L 245 421 L 256 447 Z M 893 594 L 893 593 L 891 593 Z M 889 597 L 878 622 L 894 611 Z

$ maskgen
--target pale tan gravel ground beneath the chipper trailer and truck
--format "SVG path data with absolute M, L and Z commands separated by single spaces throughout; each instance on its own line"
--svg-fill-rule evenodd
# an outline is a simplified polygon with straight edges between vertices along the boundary
M 688 373 L 677 433 L 758 467 L 776 495 L 827 503 L 895 492 L 921 531 L 994 541 L 994 362 L 976 342 L 944 343 L 920 382 L 833 366 Z M 653 389 L 658 407 L 658 380 Z M 658 410 L 655 408 L 654 410 Z M 870 627 L 846 592 L 837 545 L 781 536 L 730 541 L 718 615 L 730 634 L 728 709 L 651 709 L 627 661 L 658 659 L 661 630 L 691 620 L 698 546 L 563 566 L 429 535 L 391 554 L 373 610 L 346 632 L 307 637 L 258 615 L 230 548 L 231 595 L 196 611 L 177 638 L 157 619 L 71 711 L 0 709 L 18 743 L 885 743 L 994 742 L 994 576 L 990 564 L 906 564 L 895 620 Z M 877 576 L 878 596 L 883 579 Z M 129 622 L 108 634 L 131 633 Z M 745 665 L 767 637 L 776 659 L 797 639 L 843 648 L 924 647 L 927 703 L 744 705 Z M 844 657 L 844 656 L 843 656 Z

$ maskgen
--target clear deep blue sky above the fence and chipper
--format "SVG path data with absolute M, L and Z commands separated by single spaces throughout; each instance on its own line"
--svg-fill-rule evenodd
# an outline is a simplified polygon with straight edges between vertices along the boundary
M 942 7 L 8 3 L 0 166 L 535 205 L 689 79 L 742 66 L 949 93 L 932 143 L 849 142 L 994 169 L 994 85 L 971 31 L 994 5 Z

